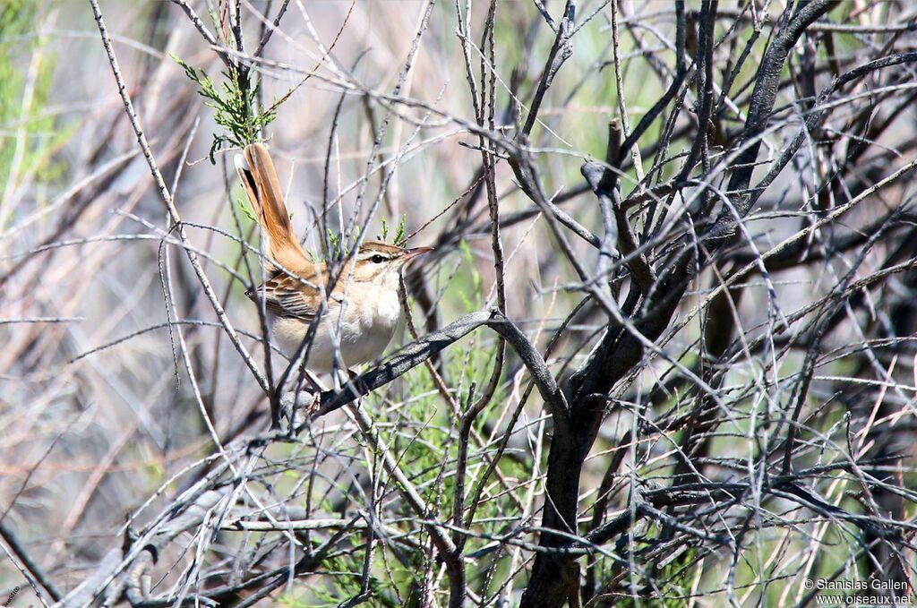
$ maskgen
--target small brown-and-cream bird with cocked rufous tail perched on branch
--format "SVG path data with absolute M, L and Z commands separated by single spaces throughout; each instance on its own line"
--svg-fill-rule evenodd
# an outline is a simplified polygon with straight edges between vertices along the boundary
M 401 272 L 432 248 L 404 249 L 379 240 L 365 241 L 330 286 L 327 263 L 307 256 L 296 238 L 267 146 L 249 144 L 243 153 L 244 159 L 237 155 L 235 165 L 267 240 L 268 253 L 264 260 L 267 281 L 246 295 L 256 304 L 263 303 L 276 343 L 293 358 L 309 326 L 321 314 L 305 361 L 307 370 L 319 374 L 349 371 L 378 359 L 402 318 Z

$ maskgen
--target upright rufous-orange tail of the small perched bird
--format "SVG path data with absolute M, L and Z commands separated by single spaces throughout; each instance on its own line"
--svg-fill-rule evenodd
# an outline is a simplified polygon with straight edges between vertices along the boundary
M 249 195 L 252 210 L 258 216 L 261 230 L 268 239 L 271 260 L 286 269 L 296 269 L 308 262 L 293 232 L 293 222 L 283 202 L 283 192 L 267 146 L 256 143 L 245 147 L 245 160 L 236 156 L 236 171 Z M 246 166 L 248 165 L 248 166 Z M 267 267 L 270 264 L 266 263 Z

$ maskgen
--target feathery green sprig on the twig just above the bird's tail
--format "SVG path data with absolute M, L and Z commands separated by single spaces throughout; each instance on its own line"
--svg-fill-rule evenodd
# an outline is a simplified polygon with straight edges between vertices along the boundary
M 258 112 L 258 94 L 260 78 L 251 71 L 227 68 L 219 86 L 204 70 L 195 70 L 181 58 L 170 53 L 172 60 L 182 66 L 184 73 L 198 86 L 198 94 L 206 100 L 204 105 L 214 109 L 216 124 L 225 129 L 223 134 L 214 134 L 210 146 L 210 161 L 215 164 L 214 155 L 224 145 L 244 148 L 250 143 L 259 141 L 264 127 L 277 118 L 277 107 L 286 99 L 275 101 L 272 105 L 261 108 Z

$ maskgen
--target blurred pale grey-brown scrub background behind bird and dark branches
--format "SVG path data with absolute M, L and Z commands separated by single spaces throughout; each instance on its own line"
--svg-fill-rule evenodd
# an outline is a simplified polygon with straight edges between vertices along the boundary
M 529 140 L 545 195 L 600 235 L 602 216 L 580 166 L 591 158 L 605 159 L 609 120 L 621 121 L 624 111 L 633 129 L 676 74 L 672 5 L 659 0 L 615 6 L 621 91 L 609 3 L 582 0 L 570 38 L 572 55 L 551 83 Z M 231 487 L 238 503 L 217 503 L 219 508 L 208 511 L 213 520 L 158 546 L 157 566 L 144 570 L 151 596 L 169 598 L 183 590 L 187 595 L 182 597 L 193 597 L 194 592 L 205 595 L 206 589 L 237 585 L 231 601 L 226 595 L 222 602 L 254 602 L 257 585 L 244 587 L 239 581 L 249 574 L 267 576 L 284 564 L 292 572 L 291 564 L 301 563 L 300 552 L 310 554 L 331 539 L 330 553 L 322 553 L 300 578 L 275 587 L 259 605 L 281 600 L 338 605 L 354 598 L 370 605 L 446 605 L 448 584 L 429 536 L 410 521 L 416 514 L 405 507 L 397 484 L 380 465 L 381 452 L 367 445 L 351 414 L 340 410 L 323 417 L 296 440 L 252 443 L 270 424 L 268 399 L 227 339 L 184 249 L 200 257 L 228 319 L 263 370 L 259 316 L 245 297 L 260 276 L 259 260 L 251 253 L 244 256 L 239 245 L 241 239 L 257 248 L 257 227 L 240 204 L 232 164 L 238 149 L 216 150 L 211 160 L 214 137 L 224 133 L 223 127 L 176 58 L 221 87 L 226 66 L 190 17 L 199 18 L 218 46 L 231 47 L 227 40 L 235 36 L 234 16 L 241 15 L 246 46 L 239 56 L 260 58 L 253 63 L 263 104 L 282 100 L 264 136 L 304 246 L 321 254 L 324 235 L 318 218 L 323 213 L 336 234 L 352 234 L 365 223 L 369 238 L 384 234 L 391 239 L 389 231 L 403 222 L 410 246 L 436 246 L 423 271 L 408 277 L 414 323 L 423 335 L 497 301 L 481 140 L 470 130 L 479 124 L 475 105 L 481 101 L 473 96 L 481 95 L 486 89 L 481 83 L 494 77 L 497 128 L 492 135 L 512 138 L 544 73 L 563 4 L 499 3 L 492 47 L 483 39 L 491 18 L 486 2 L 109 0 L 100 8 L 139 125 L 189 245 L 182 246 L 171 229 L 89 4 L 8 0 L 0 7 L 0 522 L 6 551 L 6 557 L 0 556 L 0 599 L 18 589 L 11 605 L 38 602 L 31 578 L 42 590 L 41 602 L 51 603 L 54 594 L 63 597 L 96 576 L 92 592 L 84 588 L 88 594 L 78 602 L 101 602 L 106 592 L 114 593 L 112 601 L 125 601 L 120 593 L 133 582 L 120 580 L 129 569 L 116 565 L 136 557 L 129 552 L 132 539 L 188 504 L 182 492 L 205 481 L 211 492 Z M 700 8 L 701 3 L 688 3 L 691 28 L 696 28 Z M 785 8 L 769 2 L 756 3 L 750 12 L 746 3 L 718 6 L 723 19 L 715 31 L 714 80 L 717 87 L 734 84 L 732 94 L 721 100 L 722 119 L 708 129 L 708 163 L 737 145 L 757 67 Z M 791 51 L 775 106 L 779 122 L 763 136 L 759 160 L 779 157 L 800 132 L 813 93 L 823 91 L 838 73 L 913 49 L 914 18 L 908 3 L 856 0 L 835 7 L 825 21 L 839 29 L 815 28 Z M 833 33 L 830 48 L 826 31 Z M 470 43 L 463 45 L 463 39 Z M 693 29 L 686 44 L 691 56 L 697 45 Z M 795 77 L 809 73 L 807 65 L 815 66 L 812 91 L 808 80 Z M 857 81 L 862 88 L 845 91 L 848 96 L 833 107 L 827 127 L 806 139 L 800 154 L 759 199 L 747 224 L 749 242 L 758 252 L 811 227 L 912 160 L 917 138 L 911 70 L 910 63 L 897 65 L 875 80 Z M 647 186 L 664 185 L 678 173 L 699 131 L 692 117 L 696 92 L 687 86 L 685 91 L 674 104 L 678 109 L 664 113 L 637 142 L 644 169 L 652 175 Z M 870 130 L 878 126 L 878 132 Z M 847 137 L 848 131 L 854 135 Z M 756 176 L 767 170 L 758 168 Z M 561 255 L 542 209 L 520 190 L 507 163 L 497 160 L 493 171 L 503 218 L 506 314 L 543 350 L 582 299 L 580 278 Z M 631 193 L 643 174 L 628 164 L 621 178 L 624 193 Z M 909 461 L 899 458 L 912 455 L 914 349 L 903 337 L 911 335 L 912 303 L 907 306 L 913 299 L 913 270 L 881 274 L 889 256 L 894 263 L 912 258 L 908 248 L 913 241 L 907 237 L 911 180 L 907 173 L 843 221 L 813 230 L 803 239 L 807 245 L 781 257 L 769 274 L 747 275 L 742 279 L 745 295 L 717 300 L 720 308 L 713 320 L 704 298 L 721 284 L 721 274 L 729 269 L 735 274 L 740 262 L 754 260 L 757 253 L 747 243 L 736 244 L 728 252 L 733 257 L 718 258 L 698 274 L 679 307 L 677 329 L 660 341 L 670 358 L 647 355 L 613 392 L 615 403 L 626 407 L 608 416 L 583 469 L 584 523 L 601 523 L 627 506 L 626 484 L 633 481 L 633 471 L 647 487 L 657 488 L 679 468 L 673 464 L 678 461 L 673 448 L 678 429 L 668 436 L 662 431 L 652 435 L 652 428 L 641 426 L 652 437 L 641 439 L 639 448 L 625 442 L 626 458 L 622 453 L 614 461 L 617 467 L 623 459 L 625 467 L 606 472 L 612 471 L 609 458 L 621 447 L 620 437 L 636 431 L 636 420 L 646 421 L 641 416 L 662 428 L 658 416 L 676 418 L 683 412 L 679 408 L 688 407 L 690 399 L 682 398 L 691 389 L 678 384 L 672 361 L 698 374 L 704 360 L 728 371 L 716 387 L 735 407 L 735 418 L 715 431 L 707 429 L 712 443 L 701 458 L 713 467 L 710 479 L 731 480 L 743 474 L 749 453 L 773 447 L 769 433 L 777 427 L 772 425 L 797 401 L 799 378 L 793 374 L 807 365 L 807 351 L 787 345 L 813 336 L 820 359 L 811 401 L 802 400 L 811 416 L 804 416 L 805 428 L 815 429 L 805 436 L 806 465 L 846 461 L 851 453 L 846 425 L 852 415 L 852 452 L 880 464 L 893 461 L 891 472 L 875 474 L 897 480 L 896 495 L 906 496 L 882 516 L 913 514 Z M 691 192 L 690 185 L 686 191 Z M 690 198 L 669 201 L 669 217 L 688 208 Z M 883 224 L 896 209 L 893 221 Z M 635 226 L 649 225 L 639 215 L 644 213 L 646 207 L 635 207 Z M 663 241 L 667 235 L 657 233 Z M 567 238 L 574 258 L 593 268 L 596 250 L 570 233 Z M 663 249 L 657 249 L 660 258 Z M 818 256 L 821 261 L 812 263 Z M 869 286 L 856 297 L 842 284 L 848 271 L 853 272 L 851 281 L 862 279 Z M 842 295 L 845 307 L 831 309 L 841 318 L 823 327 L 823 335 L 818 326 L 806 325 L 820 313 L 827 315 L 820 307 L 824 302 Z M 704 314 L 691 313 L 697 305 Z M 903 326 L 896 325 L 896 315 Z M 724 318 L 735 320 L 737 327 L 726 332 L 726 344 L 718 347 L 708 340 L 699 346 L 707 336 L 706 324 Z M 755 340 L 774 333 L 788 318 L 796 324 L 792 337 L 780 335 L 769 348 L 760 348 Z M 548 359 L 558 378 L 586 358 L 606 322 L 596 306 L 570 318 Z M 410 339 L 404 327 L 390 350 Z M 887 346 L 889 339 L 897 349 L 855 348 L 871 340 L 886 340 L 882 344 Z M 742 348 L 748 342 L 755 344 Z M 497 348 L 491 332 L 473 333 L 435 359 L 432 367 L 445 386 L 437 385 L 433 372 L 418 367 L 366 400 L 390 448 L 444 521 L 456 487 L 450 471 L 460 424 L 453 408 L 469 401 L 475 386 L 487 384 Z M 705 359 L 710 352 L 713 357 Z M 274 374 L 285 363 L 274 353 Z M 525 369 L 509 354 L 497 391 L 472 429 L 465 491 L 481 492 L 482 506 L 480 521 L 472 518 L 474 534 L 467 548 L 472 554 L 469 602 L 479 605 L 515 605 L 535 555 L 551 424 L 537 396 L 523 399 L 527 384 Z M 872 407 L 891 402 L 888 411 Z M 879 423 L 900 433 L 894 442 L 886 445 L 877 438 L 884 433 Z M 674 437 L 672 443 L 666 437 Z M 224 461 L 229 464 L 220 469 Z M 495 472 L 475 487 L 492 462 Z M 839 477 L 832 479 L 835 473 Z M 857 493 L 865 491 L 851 481 L 855 473 L 829 467 L 823 474 L 812 481 L 823 500 L 854 511 L 868 503 Z M 248 485 L 234 485 L 239 479 Z M 600 485 L 604 502 L 601 513 L 593 515 Z M 817 523 L 805 527 L 811 513 L 801 511 L 799 503 L 775 500 L 765 520 L 756 520 L 755 540 L 746 540 L 746 558 L 702 548 L 701 541 L 666 554 L 669 561 L 657 564 L 656 571 L 672 565 L 665 576 L 659 574 L 680 590 L 671 597 L 691 597 L 700 605 L 723 605 L 719 602 L 726 598 L 791 605 L 805 600 L 803 580 L 816 572 L 846 568 L 866 576 L 862 569 L 868 559 L 858 552 L 857 542 L 868 541 L 847 536 L 846 520 L 829 524 L 827 517 L 821 528 Z M 728 508 L 734 507 L 743 508 Z M 255 527 L 245 533 L 229 530 L 253 512 L 277 509 L 289 510 L 284 518 L 332 523 L 289 537 Z M 867 507 L 863 512 L 876 514 Z M 735 517 L 724 525 L 734 532 L 741 529 L 744 515 L 722 513 Z M 347 522 L 358 515 L 363 517 L 359 521 L 375 523 L 354 525 L 350 531 L 357 532 L 341 546 L 335 531 L 348 530 Z M 375 529 L 370 540 L 362 536 L 367 527 Z M 847 527 L 862 533 L 856 525 Z M 506 540 L 510 536 L 513 542 Z M 376 553 L 367 549 L 374 546 L 379 547 Z M 619 549 L 609 548 L 624 555 Z M 775 551 L 785 569 L 769 561 Z M 899 579 L 910 580 L 913 555 L 910 548 L 901 551 L 906 553 L 898 554 L 898 568 L 907 574 Z M 631 558 L 649 564 L 654 555 L 660 559 L 652 553 Z M 615 588 L 626 587 L 627 580 L 622 582 L 620 562 L 605 558 L 582 562 L 584 571 L 587 562 L 598 568 L 591 580 L 594 588 L 611 593 L 595 605 L 611 605 L 607 602 L 626 598 L 628 592 L 652 587 L 641 579 L 632 581 L 630 591 Z M 34 580 L 36 573 L 56 591 Z M 732 579 L 724 582 L 727 574 Z M 595 576 L 604 583 L 596 583 Z M 704 592 L 710 594 L 707 599 Z M 664 596 L 660 591 L 657 599 Z

